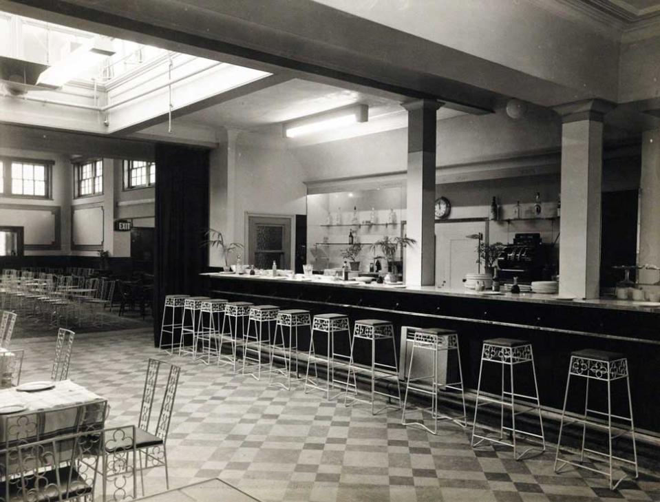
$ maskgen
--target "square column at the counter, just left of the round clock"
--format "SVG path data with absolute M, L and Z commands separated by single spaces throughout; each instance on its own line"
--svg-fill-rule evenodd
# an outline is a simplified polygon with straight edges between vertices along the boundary
M 435 284 L 436 112 L 442 103 L 429 99 L 403 103 L 408 111 L 405 282 Z

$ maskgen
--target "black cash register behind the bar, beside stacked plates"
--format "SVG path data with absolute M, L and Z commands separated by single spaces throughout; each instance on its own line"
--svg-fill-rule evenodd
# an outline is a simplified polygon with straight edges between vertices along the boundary
M 532 281 L 551 280 L 555 273 L 552 244 L 544 244 L 540 233 L 516 233 L 513 244 L 507 244 L 498 256 L 501 282 L 529 284 Z

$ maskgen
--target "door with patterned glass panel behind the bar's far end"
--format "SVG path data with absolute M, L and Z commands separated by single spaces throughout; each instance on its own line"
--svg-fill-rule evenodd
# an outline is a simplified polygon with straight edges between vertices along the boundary
M 291 218 L 248 216 L 248 260 L 257 269 L 291 269 Z

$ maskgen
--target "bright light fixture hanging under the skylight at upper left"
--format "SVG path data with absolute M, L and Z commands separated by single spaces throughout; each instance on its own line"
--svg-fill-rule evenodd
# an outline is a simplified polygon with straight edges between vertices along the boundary
M 114 53 L 110 39 L 106 37 L 90 39 L 80 47 L 72 50 L 64 59 L 48 67 L 39 75 L 36 83 L 37 85 L 62 87 L 68 81 L 90 70 Z

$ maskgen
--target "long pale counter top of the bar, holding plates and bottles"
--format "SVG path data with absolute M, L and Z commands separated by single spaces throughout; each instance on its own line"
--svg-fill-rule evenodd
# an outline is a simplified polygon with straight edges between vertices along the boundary
M 493 301 L 506 301 L 506 302 L 531 302 L 542 304 L 564 304 L 564 305 L 579 305 L 585 307 L 608 308 L 615 310 L 625 311 L 641 311 L 650 313 L 660 313 L 660 304 L 652 304 L 651 302 L 632 302 L 630 300 L 616 300 L 614 298 L 600 298 L 596 300 L 582 300 L 561 297 L 560 295 L 544 295 L 541 293 L 502 293 L 500 295 L 492 295 L 489 292 L 478 292 L 469 289 L 449 289 L 438 288 L 436 286 L 406 286 L 404 284 L 364 284 L 357 281 L 342 281 L 330 280 L 330 278 L 323 278 L 325 276 L 315 275 L 312 279 L 300 278 L 296 279 L 278 276 L 270 277 L 268 275 L 239 275 L 236 273 L 215 273 L 207 272 L 202 273 L 209 278 L 213 279 L 240 279 L 247 281 L 268 281 L 268 282 L 286 282 L 300 284 L 310 284 L 315 286 L 323 286 L 330 288 L 350 288 L 350 289 L 363 289 L 366 291 L 390 291 L 392 293 L 425 293 L 440 296 L 451 297 L 469 297 L 479 298 Z

